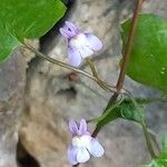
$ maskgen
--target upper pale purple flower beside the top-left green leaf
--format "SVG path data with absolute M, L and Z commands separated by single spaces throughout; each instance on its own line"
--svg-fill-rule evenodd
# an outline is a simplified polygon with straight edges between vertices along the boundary
M 81 32 L 72 22 L 66 21 L 65 27 L 60 28 L 60 33 L 68 41 L 68 58 L 71 66 L 80 66 L 84 58 L 102 48 L 102 42 L 96 36 Z

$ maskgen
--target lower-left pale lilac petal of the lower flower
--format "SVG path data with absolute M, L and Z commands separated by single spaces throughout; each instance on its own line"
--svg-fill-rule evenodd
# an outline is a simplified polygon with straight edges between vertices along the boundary
M 68 160 L 71 163 L 71 165 L 78 164 L 78 161 L 77 161 L 77 153 L 78 153 L 78 148 L 77 147 L 73 147 L 71 145 L 68 147 L 67 157 L 68 157 Z

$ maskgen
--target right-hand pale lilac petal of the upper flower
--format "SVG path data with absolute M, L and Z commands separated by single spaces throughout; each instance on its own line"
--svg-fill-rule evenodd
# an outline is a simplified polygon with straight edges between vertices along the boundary
M 99 51 L 102 49 L 102 42 L 100 41 L 100 39 L 91 33 L 85 33 L 88 40 L 88 46 L 90 47 L 90 49 L 95 50 L 95 51 Z

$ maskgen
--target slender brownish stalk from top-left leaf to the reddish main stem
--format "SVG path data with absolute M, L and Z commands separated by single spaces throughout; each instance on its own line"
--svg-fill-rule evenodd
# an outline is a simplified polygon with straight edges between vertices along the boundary
M 24 45 L 24 47 L 26 47 L 27 49 L 33 51 L 38 57 L 40 57 L 40 58 L 42 58 L 42 59 L 45 59 L 45 60 L 48 60 L 48 61 L 50 61 L 50 62 L 52 62 L 52 63 L 55 63 L 55 65 L 58 65 L 58 66 L 60 66 L 60 67 L 63 67 L 63 68 L 73 70 L 73 71 L 76 71 L 76 72 L 78 72 L 78 73 L 81 73 L 81 75 L 84 75 L 84 76 L 90 78 L 91 80 L 96 81 L 104 90 L 110 91 L 110 92 L 116 92 L 116 91 L 117 91 L 114 87 L 109 86 L 109 85 L 106 84 L 105 81 L 101 81 L 101 80 L 99 81 L 99 79 L 96 78 L 95 76 L 91 76 L 90 73 L 88 73 L 88 72 L 86 72 L 86 71 L 84 71 L 84 70 L 80 70 L 80 69 L 78 69 L 78 68 L 75 68 L 75 67 L 72 67 L 72 66 L 70 66 L 70 65 L 67 65 L 67 63 L 65 63 L 65 62 L 62 62 L 62 61 L 52 59 L 52 58 L 50 58 L 50 57 L 48 57 L 48 56 L 41 53 L 40 51 L 36 50 L 32 46 L 30 46 L 30 45 L 28 45 L 28 43 L 23 43 L 23 45 Z

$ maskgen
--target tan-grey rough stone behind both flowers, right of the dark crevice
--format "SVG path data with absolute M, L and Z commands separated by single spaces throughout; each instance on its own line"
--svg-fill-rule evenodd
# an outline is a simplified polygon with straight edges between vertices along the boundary
M 102 40 L 105 47 L 95 57 L 95 63 L 100 76 L 109 84 L 116 82 L 118 76 L 119 57 L 117 56 L 120 56 L 121 48 L 118 22 L 129 17 L 134 2 L 130 0 L 77 0 L 69 17 L 69 20 L 89 32 L 94 31 Z M 144 12 L 167 17 L 165 7 L 167 7 L 166 0 L 147 0 Z M 48 55 L 68 62 L 65 40 L 59 36 L 52 45 L 56 47 Z M 85 70 L 88 68 L 85 67 Z M 66 159 L 66 147 L 70 137 L 67 129 L 68 118 L 95 117 L 106 106 L 107 100 L 96 96 L 84 85 L 94 88 L 106 99 L 110 96 L 84 76 L 79 75 L 84 84 L 69 81 L 69 70 L 39 59 L 33 60 L 28 69 L 20 141 L 41 167 L 70 166 Z M 128 78 L 126 87 L 136 96 L 157 96 L 158 94 Z M 155 105 L 149 108 L 148 122 L 157 134 L 165 130 L 166 107 Z M 159 110 L 158 114 L 156 109 Z M 141 129 L 131 122 L 119 120 L 110 124 L 100 132 L 99 140 L 106 148 L 106 155 L 100 159 L 91 159 L 82 166 L 134 167 L 149 159 Z

